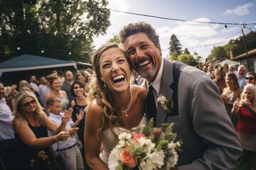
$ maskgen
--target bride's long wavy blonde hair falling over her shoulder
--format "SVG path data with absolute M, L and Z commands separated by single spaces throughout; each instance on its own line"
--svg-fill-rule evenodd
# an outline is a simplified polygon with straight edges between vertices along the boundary
M 126 56 L 124 47 L 117 42 L 106 43 L 95 51 L 91 58 L 92 67 L 95 71 L 95 79 L 93 79 L 90 83 L 90 91 L 87 99 L 89 101 L 88 106 L 93 99 L 96 99 L 97 103 L 103 107 L 102 126 L 97 130 L 97 137 L 99 138 L 99 134 L 103 130 L 110 128 L 114 137 L 117 139 L 117 134 L 114 132 L 114 128 L 118 126 L 125 128 L 125 125 L 121 120 L 121 111 L 119 106 L 117 106 L 117 104 L 114 102 L 112 94 L 105 85 L 105 81 L 101 79 L 99 63 L 102 53 L 110 48 L 118 48 Z

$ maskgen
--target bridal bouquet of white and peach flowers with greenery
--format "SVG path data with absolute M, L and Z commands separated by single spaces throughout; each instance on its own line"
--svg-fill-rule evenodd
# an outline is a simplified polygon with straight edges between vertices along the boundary
M 174 123 L 164 123 L 154 128 L 151 118 L 148 125 L 134 128 L 131 133 L 118 136 L 119 142 L 108 162 L 109 169 L 171 169 L 178 162 L 181 140 L 175 142 L 176 133 L 172 132 Z

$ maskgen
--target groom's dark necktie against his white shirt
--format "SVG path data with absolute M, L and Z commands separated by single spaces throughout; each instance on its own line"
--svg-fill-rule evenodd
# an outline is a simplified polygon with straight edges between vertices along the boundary
M 156 125 L 156 102 L 153 94 L 154 87 L 150 84 L 148 96 L 146 98 L 146 114 L 148 118 L 154 118 L 154 124 Z

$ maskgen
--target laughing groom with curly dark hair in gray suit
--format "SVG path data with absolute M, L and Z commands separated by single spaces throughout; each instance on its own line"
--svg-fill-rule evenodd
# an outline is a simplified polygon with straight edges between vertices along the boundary
M 242 149 L 215 83 L 199 69 L 163 59 L 148 23 L 130 23 L 119 36 L 132 68 L 154 88 L 151 105 L 160 95 L 174 101 L 171 114 L 159 102 L 157 112 L 146 114 L 156 126 L 174 122 L 176 139 L 183 141 L 175 169 L 235 169 Z

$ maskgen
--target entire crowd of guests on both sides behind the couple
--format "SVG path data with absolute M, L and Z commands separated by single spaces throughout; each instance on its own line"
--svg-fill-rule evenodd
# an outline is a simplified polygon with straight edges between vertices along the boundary
M 226 63 L 204 66 L 202 71 L 218 86 L 240 137 L 244 152 L 239 164 L 250 152 L 252 169 L 256 169 L 255 72 L 246 72 L 243 65 L 236 71 L 233 64 Z M 58 169 L 55 152 L 60 152 L 65 169 L 85 169 L 85 107 L 93 74 L 91 69 L 75 77 L 69 70 L 53 71 L 40 81 L 31 75 L 29 83 L 21 80 L 4 86 L 0 82 L 1 160 L 5 169 Z M 140 81 L 137 77 L 135 84 Z

